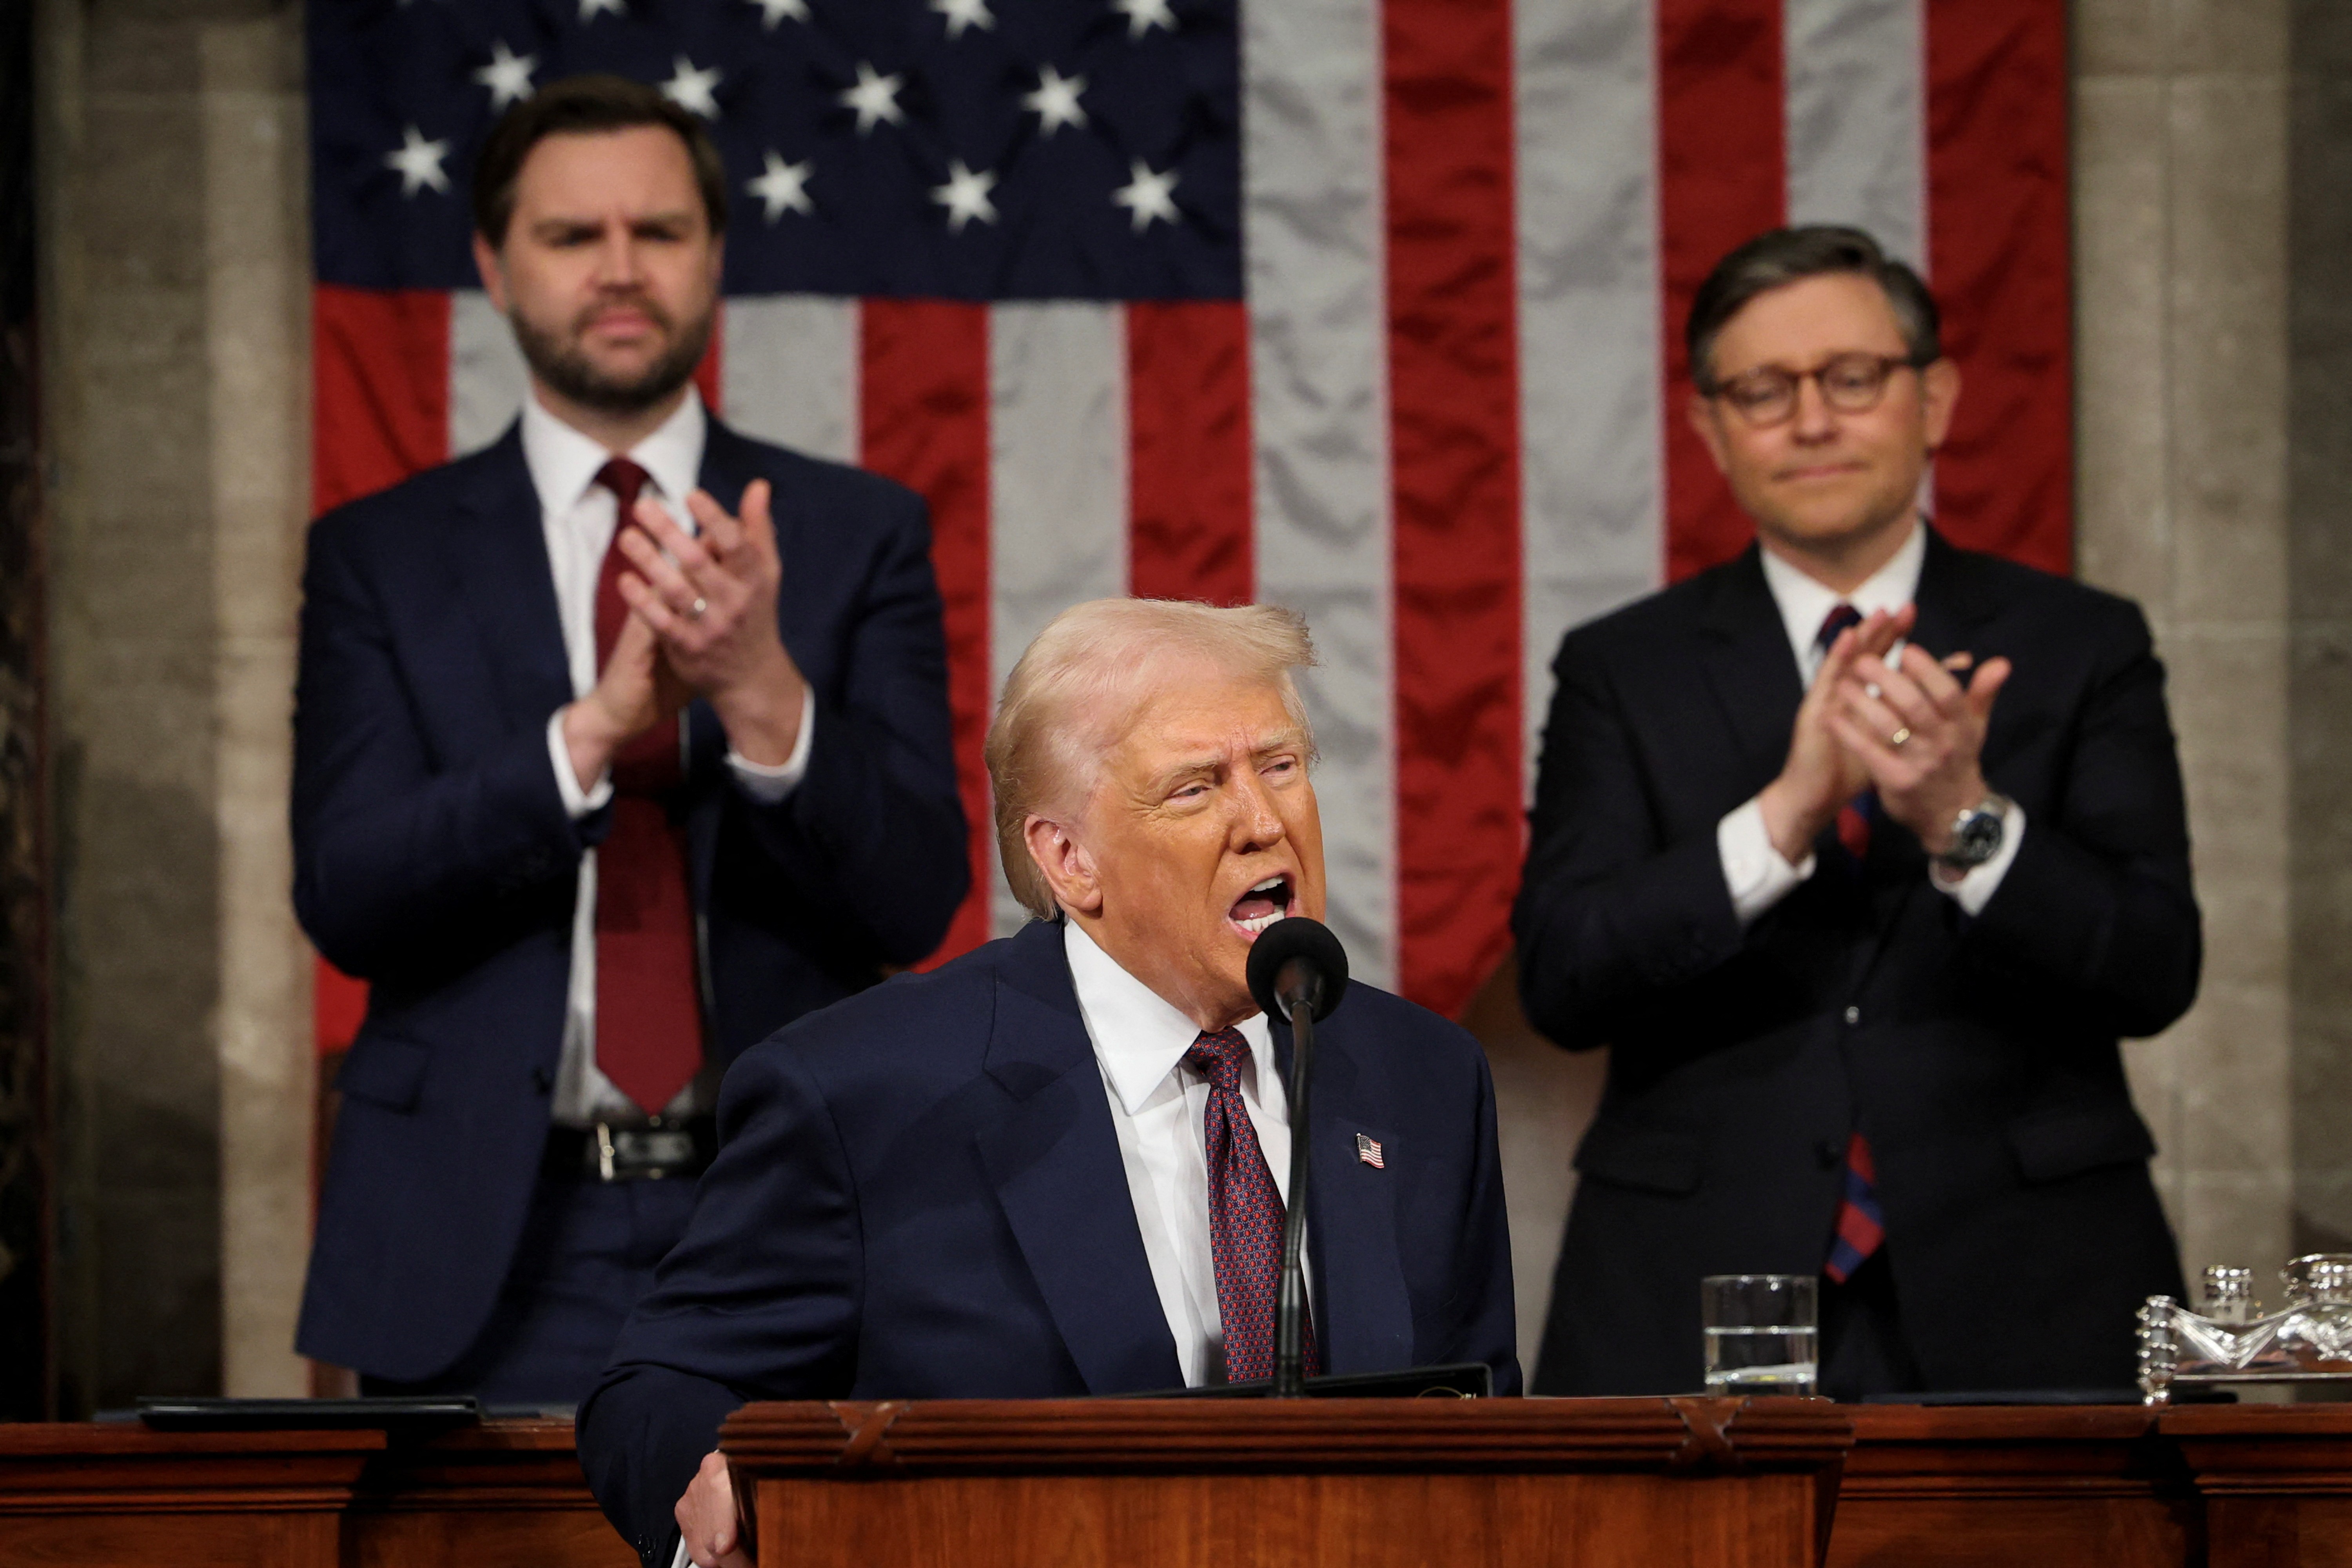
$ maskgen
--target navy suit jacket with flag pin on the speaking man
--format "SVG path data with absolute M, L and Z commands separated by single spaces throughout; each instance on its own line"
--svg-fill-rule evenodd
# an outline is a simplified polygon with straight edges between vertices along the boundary
M 1315 1034 L 1308 1248 L 1327 1371 L 1484 1361 L 1519 1392 L 1494 1081 L 1369 985 Z M 1289 1027 L 1275 1025 L 1289 1063 Z M 1383 1168 L 1355 1135 L 1383 1145 Z M 1063 933 L 1033 924 L 743 1053 L 687 1239 L 581 1408 L 581 1462 L 647 1563 L 750 1399 L 1174 1389 Z

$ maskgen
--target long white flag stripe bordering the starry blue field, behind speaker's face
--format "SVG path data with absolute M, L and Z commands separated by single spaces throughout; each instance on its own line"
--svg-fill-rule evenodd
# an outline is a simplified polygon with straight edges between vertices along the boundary
M 1381 7 L 1242 7 L 1256 595 L 1305 614 L 1331 929 L 1397 966 Z

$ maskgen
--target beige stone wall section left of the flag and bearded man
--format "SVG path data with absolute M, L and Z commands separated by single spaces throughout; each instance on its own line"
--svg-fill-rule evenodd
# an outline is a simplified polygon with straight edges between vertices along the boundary
M 64 1401 L 301 1392 L 301 12 L 38 16 Z

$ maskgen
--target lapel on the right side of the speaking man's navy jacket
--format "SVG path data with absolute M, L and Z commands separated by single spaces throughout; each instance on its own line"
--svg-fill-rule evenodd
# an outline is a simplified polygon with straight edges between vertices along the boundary
M 1291 1027 L 1275 1020 L 1275 1063 L 1291 1070 Z M 1395 1147 L 1374 1084 L 1352 1051 L 1345 1001 L 1317 1027 L 1308 1095 L 1308 1253 L 1315 1262 L 1315 1342 L 1327 1373 L 1414 1363 L 1414 1302 L 1397 1255 L 1399 1166 L 1357 1159 L 1355 1135 Z M 1399 1157 L 1404 1152 L 1399 1150 Z

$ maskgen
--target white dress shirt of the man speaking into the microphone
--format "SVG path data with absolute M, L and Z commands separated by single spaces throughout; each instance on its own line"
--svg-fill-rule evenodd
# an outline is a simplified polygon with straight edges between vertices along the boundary
M 1094 1060 L 1103 1070 L 1127 1197 L 1136 1206 L 1160 1312 L 1176 1338 L 1176 1366 L 1185 1387 L 1223 1382 L 1225 1335 L 1216 1312 L 1216 1253 L 1209 1248 L 1209 1079 L 1183 1065 L 1200 1025 L 1120 969 L 1077 922 L 1063 922 L 1063 952 Z M 1275 1173 L 1275 1192 L 1289 1204 L 1291 1112 L 1275 1070 L 1275 1037 L 1265 1013 L 1237 1027 L 1249 1041 L 1242 1105 Z

